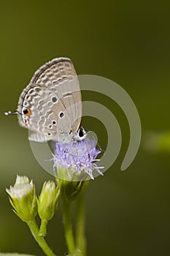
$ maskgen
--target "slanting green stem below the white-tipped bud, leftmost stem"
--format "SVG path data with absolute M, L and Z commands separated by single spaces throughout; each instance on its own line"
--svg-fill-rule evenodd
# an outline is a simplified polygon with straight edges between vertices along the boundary
M 31 221 L 31 222 L 27 222 L 28 227 L 31 230 L 32 235 L 34 236 L 36 242 L 39 244 L 39 246 L 42 248 L 43 252 L 45 252 L 45 254 L 47 256 L 56 256 L 52 250 L 50 249 L 50 247 L 47 245 L 45 238 L 43 236 L 39 236 L 39 227 L 36 225 L 35 220 Z

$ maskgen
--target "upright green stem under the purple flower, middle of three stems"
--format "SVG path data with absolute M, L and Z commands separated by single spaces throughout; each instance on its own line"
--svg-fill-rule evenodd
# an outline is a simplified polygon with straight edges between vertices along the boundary
M 66 237 L 66 244 L 69 249 L 69 253 L 75 252 L 76 246 L 74 242 L 74 234 L 72 230 L 72 218 L 70 203 L 67 200 L 63 200 L 63 226 Z

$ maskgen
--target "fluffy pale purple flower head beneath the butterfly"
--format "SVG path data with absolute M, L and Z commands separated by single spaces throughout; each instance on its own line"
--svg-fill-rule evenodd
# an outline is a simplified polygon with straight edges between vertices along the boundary
M 96 140 L 88 140 L 85 138 L 80 141 L 71 141 L 70 143 L 54 143 L 54 170 L 58 171 L 62 169 L 66 170 L 67 176 L 72 180 L 85 180 L 89 176 L 93 177 L 93 171 L 103 175 L 95 162 L 100 161 L 96 159 L 99 151 L 96 148 Z M 60 175 L 59 175 L 60 176 Z M 59 177 L 61 178 L 61 177 Z

